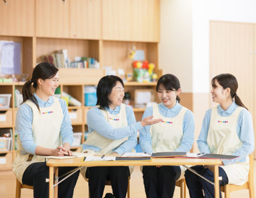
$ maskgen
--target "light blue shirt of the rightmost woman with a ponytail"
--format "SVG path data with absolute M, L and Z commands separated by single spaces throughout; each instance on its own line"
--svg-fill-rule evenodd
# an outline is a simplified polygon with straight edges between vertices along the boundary
M 233 114 L 233 112 L 238 107 L 233 101 L 231 106 L 227 110 L 223 110 L 220 105 L 217 106 L 217 112 L 219 116 L 228 117 Z M 205 113 L 205 118 L 203 118 L 202 129 L 197 139 L 197 145 L 201 153 L 210 153 L 210 149 L 207 145 L 207 136 L 209 132 L 209 124 L 211 121 L 211 109 L 207 110 Z M 235 123 L 234 123 L 235 124 Z M 251 114 L 245 108 L 241 110 L 238 120 L 237 120 L 237 136 L 242 142 L 240 149 L 235 151 L 233 155 L 237 155 L 236 159 L 223 159 L 224 165 L 229 165 L 236 162 L 245 161 L 245 157 L 249 155 L 254 150 L 254 133 L 253 133 L 253 121 L 251 119 Z

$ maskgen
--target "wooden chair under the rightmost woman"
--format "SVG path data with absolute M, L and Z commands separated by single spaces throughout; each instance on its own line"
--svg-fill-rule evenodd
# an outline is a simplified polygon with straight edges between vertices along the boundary
M 249 162 L 250 169 L 249 169 L 248 181 L 245 182 L 243 185 L 227 184 L 227 185 L 221 186 L 221 191 L 225 193 L 225 198 L 230 198 L 230 193 L 232 191 L 239 191 L 243 189 L 249 189 L 250 198 L 255 197 L 254 184 L 253 184 L 253 153 L 249 155 L 249 159 L 250 159 L 250 162 Z

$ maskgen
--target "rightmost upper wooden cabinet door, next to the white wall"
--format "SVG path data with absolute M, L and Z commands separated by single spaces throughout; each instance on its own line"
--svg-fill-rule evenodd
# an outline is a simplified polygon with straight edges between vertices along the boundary
M 159 0 L 131 0 L 131 39 L 159 41 Z

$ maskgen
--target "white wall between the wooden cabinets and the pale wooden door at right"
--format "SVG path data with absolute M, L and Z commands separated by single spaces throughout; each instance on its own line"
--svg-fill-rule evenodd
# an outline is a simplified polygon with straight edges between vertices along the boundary
M 159 68 L 183 92 L 209 92 L 209 21 L 256 23 L 255 0 L 161 0 Z

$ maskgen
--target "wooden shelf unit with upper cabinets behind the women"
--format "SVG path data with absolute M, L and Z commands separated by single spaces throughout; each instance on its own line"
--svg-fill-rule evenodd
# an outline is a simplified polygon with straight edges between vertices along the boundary
M 65 91 L 82 103 L 81 107 L 68 107 L 73 116 L 77 114 L 77 119 L 72 119 L 73 131 L 82 132 L 82 138 L 87 131 L 86 113 L 90 108 L 84 106 L 83 87 L 97 84 L 105 75 L 103 66 L 132 73 L 133 60 L 128 54 L 135 46 L 144 50 L 145 59 L 155 64 L 154 72 L 162 74 L 158 66 L 159 0 L 12 0 L 8 5 L 0 2 L 0 17 L 6 19 L 0 25 L 0 41 L 21 43 L 21 72 L 29 74 L 29 78 L 41 56 L 55 50 L 67 49 L 71 61 L 75 56 L 99 60 L 99 70 L 59 69 L 61 93 Z M 17 112 L 13 96 L 15 88 L 21 91 L 22 85 L 0 83 L 0 94 L 12 94 L 10 108 L 0 110 L 11 114 L 11 122 L 0 128 L 11 128 L 13 134 Z M 156 82 L 127 82 L 125 91 L 131 92 L 133 99 L 135 89 L 155 86 Z M 137 120 L 141 120 L 144 110 L 134 108 Z M 0 151 L 0 160 L 1 157 L 6 157 L 7 163 L 0 163 L 0 170 L 11 169 L 15 151 Z

